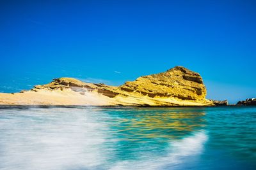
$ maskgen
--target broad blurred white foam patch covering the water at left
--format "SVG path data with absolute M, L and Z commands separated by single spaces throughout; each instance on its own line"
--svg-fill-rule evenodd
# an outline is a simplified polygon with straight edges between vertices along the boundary
M 81 115 L 81 110 L 74 108 L 73 113 L 54 108 L 48 110 L 52 111 L 49 115 L 42 114 L 50 120 L 41 122 L 33 119 L 40 120 L 33 116 L 38 111 L 22 111 L 22 115 L 32 118 L 13 118 L 3 124 L 5 127 L 0 125 L 6 130 L 0 139 L 0 169 L 95 169 L 104 164 L 106 157 L 99 146 L 109 137 L 100 129 L 108 127 L 93 120 L 94 113 L 83 110 Z M 54 112 L 63 115 L 54 117 Z

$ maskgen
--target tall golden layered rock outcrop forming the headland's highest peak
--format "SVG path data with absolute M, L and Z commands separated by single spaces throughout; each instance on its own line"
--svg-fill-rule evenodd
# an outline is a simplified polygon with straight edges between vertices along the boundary
M 180 66 L 164 73 L 127 81 L 118 89 L 148 97 L 177 97 L 184 100 L 205 99 L 206 95 L 200 74 Z

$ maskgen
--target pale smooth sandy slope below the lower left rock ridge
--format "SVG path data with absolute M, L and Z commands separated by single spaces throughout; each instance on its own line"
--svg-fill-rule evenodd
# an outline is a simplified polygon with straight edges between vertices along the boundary
M 4 94 L 0 93 L 0 104 L 17 105 L 113 105 L 109 97 L 88 93 L 81 95 L 72 90 L 38 92 L 28 91 L 24 93 Z

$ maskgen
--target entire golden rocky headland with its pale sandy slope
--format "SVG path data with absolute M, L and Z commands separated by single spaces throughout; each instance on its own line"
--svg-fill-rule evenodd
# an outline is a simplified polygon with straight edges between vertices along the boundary
M 56 78 L 46 85 L 15 94 L 0 94 L 0 104 L 124 105 L 124 106 L 212 106 L 205 99 L 200 74 L 185 67 L 141 76 L 113 87 L 74 78 Z

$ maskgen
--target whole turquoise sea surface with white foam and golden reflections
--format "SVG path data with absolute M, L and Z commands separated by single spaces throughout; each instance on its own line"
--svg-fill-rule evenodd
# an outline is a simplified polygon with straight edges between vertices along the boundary
M 256 107 L 0 106 L 0 169 L 256 169 Z

